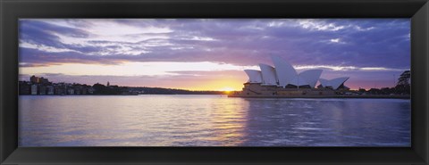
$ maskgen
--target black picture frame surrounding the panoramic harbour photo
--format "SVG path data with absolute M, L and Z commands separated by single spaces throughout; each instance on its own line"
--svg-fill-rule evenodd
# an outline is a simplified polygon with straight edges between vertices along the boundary
M 0 0 L 1 164 L 429 164 L 427 0 Z M 411 147 L 18 147 L 20 18 L 410 18 Z

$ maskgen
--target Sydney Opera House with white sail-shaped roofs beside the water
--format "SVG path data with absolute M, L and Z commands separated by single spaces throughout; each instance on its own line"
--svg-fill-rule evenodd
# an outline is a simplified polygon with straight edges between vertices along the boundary
M 260 70 L 244 70 L 248 82 L 243 90 L 230 96 L 324 96 L 341 95 L 349 90 L 344 83 L 347 77 L 320 78 L 323 70 L 297 72 L 289 62 L 272 56 L 274 66 L 260 63 Z M 315 87 L 317 82 L 319 86 Z

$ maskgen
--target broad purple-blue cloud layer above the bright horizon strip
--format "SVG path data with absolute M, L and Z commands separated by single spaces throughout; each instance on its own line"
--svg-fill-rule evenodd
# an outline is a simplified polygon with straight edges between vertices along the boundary
M 276 54 L 301 69 L 376 75 L 410 68 L 409 34 L 409 19 L 23 19 L 20 66 L 214 62 L 252 67 L 273 64 L 270 54 Z

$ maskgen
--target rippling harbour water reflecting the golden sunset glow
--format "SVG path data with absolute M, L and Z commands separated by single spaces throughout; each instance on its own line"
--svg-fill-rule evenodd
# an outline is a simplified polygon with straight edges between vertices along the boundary
M 410 101 L 21 95 L 20 146 L 410 146 Z

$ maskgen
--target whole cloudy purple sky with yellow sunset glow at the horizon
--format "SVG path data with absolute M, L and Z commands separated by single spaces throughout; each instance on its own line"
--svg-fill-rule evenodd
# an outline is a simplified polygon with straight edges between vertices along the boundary
M 240 90 L 279 55 L 298 72 L 393 87 L 410 69 L 409 19 L 21 19 L 20 79 Z

